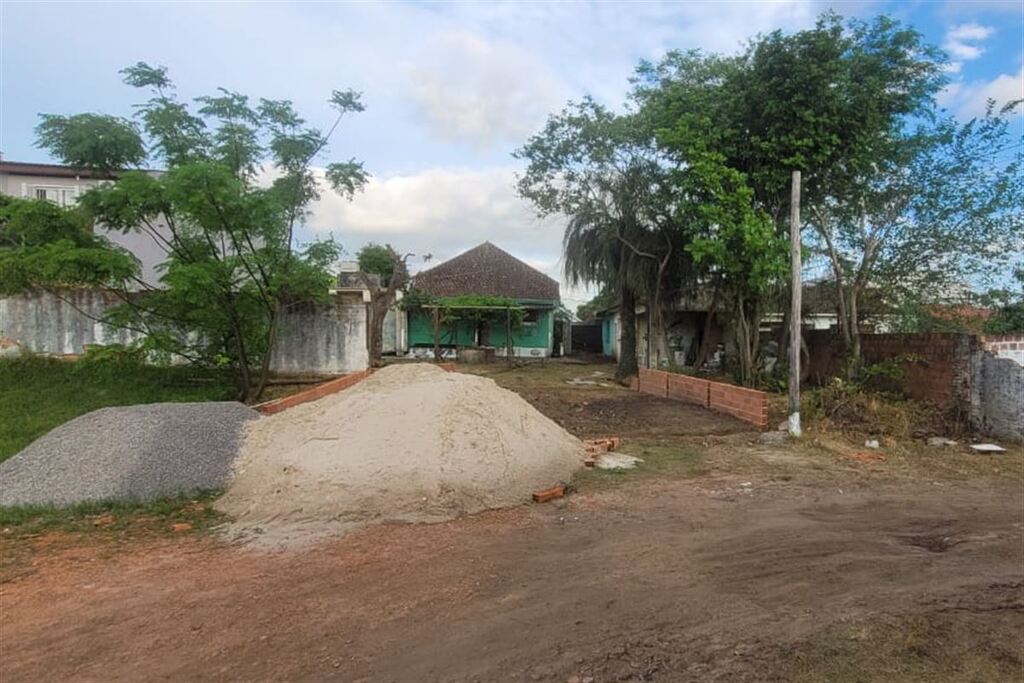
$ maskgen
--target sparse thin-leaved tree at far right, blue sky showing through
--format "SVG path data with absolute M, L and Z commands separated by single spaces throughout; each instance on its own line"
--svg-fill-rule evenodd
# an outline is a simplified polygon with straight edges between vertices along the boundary
M 1008 121 L 1015 105 L 996 112 L 990 104 L 966 124 L 947 118 L 894 136 L 894 148 L 844 195 L 811 207 L 851 372 L 860 359 L 860 302 L 868 288 L 902 304 L 945 303 L 968 283 L 998 276 L 1021 252 L 1022 153 Z

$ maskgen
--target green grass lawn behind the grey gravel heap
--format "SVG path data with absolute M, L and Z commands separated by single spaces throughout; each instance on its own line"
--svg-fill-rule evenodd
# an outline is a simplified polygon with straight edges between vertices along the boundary
M 224 400 L 223 377 L 112 359 L 0 359 L 0 462 L 57 425 L 106 405 Z

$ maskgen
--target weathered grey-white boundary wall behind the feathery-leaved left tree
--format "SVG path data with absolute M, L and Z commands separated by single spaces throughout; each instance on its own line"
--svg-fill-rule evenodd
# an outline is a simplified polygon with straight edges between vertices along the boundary
M 0 297 L 0 349 L 79 355 L 92 344 L 130 344 L 138 335 L 98 323 L 118 299 L 102 290 L 36 291 Z M 270 368 L 283 374 L 337 374 L 369 366 L 366 308 L 337 304 L 282 314 Z

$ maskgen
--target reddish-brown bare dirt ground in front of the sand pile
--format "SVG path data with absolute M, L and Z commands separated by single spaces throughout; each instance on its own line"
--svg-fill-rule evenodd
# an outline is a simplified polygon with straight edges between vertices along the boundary
M 672 405 L 566 384 L 582 370 L 495 377 L 581 435 L 625 435 L 637 472 L 275 554 L 203 535 L 20 541 L 38 548 L 0 584 L 0 680 L 1024 676 L 1024 454 L 860 463 L 687 411 L 651 435 Z M 595 404 L 604 418 L 577 420 Z

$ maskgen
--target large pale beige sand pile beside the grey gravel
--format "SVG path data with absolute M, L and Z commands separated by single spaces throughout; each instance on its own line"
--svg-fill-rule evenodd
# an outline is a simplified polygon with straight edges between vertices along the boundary
M 391 366 L 250 423 L 218 507 L 229 532 L 290 543 L 518 505 L 582 464 L 575 437 L 492 380 Z

